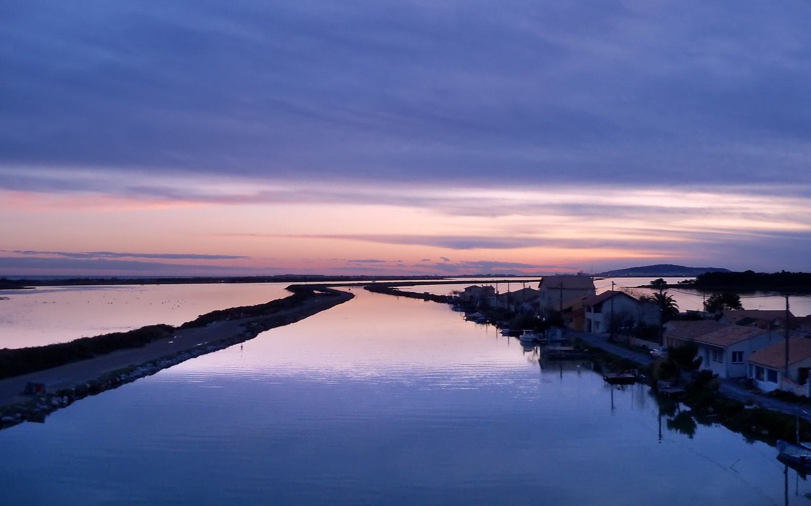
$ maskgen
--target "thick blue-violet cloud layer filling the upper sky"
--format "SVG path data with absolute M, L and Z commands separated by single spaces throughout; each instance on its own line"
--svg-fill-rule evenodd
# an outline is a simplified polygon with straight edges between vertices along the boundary
M 811 182 L 809 6 L 643 3 L 23 2 L 0 28 L 0 163 L 147 180 Z M 46 184 L 24 180 L 0 185 Z

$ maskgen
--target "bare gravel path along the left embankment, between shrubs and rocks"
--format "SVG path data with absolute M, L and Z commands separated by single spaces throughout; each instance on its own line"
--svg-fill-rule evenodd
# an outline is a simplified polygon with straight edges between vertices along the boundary
M 281 309 L 266 315 L 239 320 L 216 321 L 204 327 L 178 329 L 169 338 L 150 342 L 145 347 L 114 351 L 93 359 L 6 378 L 0 380 L 0 409 L 32 402 L 32 396 L 21 394 L 28 381 L 44 383 L 48 393 L 72 389 L 77 385 L 85 385 L 97 380 L 110 372 L 147 363 L 157 363 L 165 357 L 177 357 L 183 351 L 200 351 L 212 345 L 219 346 L 216 349 L 221 349 L 224 342 L 246 341 L 264 330 L 303 320 L 315 313 L 344 303 L 352 297 L 352 294 L 344 291 L 333 291 L 333 295 L 316 293 L 295 308 Z M 200 355 L 200 352 L 197 355 Z M 175 360 L 176 362 L 177 360 Z M 3 409 L 3 411 L 7 411 L 7 409 Z M 6 420 L 7 422 L 8 420 Z

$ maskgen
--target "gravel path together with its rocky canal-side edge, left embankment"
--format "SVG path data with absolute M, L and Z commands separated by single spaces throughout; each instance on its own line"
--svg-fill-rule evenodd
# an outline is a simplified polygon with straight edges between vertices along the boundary
M 144 347 L 126 348 L 0 380 L 0 430 L 25 421 L 44 422 L 50 413 L 88 395 L 248 341 L 265 330 L 290 325 L 354 298 L 350 292 L 317 285 L 293 285 L 288 289 L 293 294 L 280 300 L 297 300 L 304 296 L 294 307 L 271 307 L 263 313 L 236 319 L 227 316 L 230 309 L 224 309 L 215 312 L 221 313 L 222 319 L 204 326 L 178 327 L 169 337 L 149 342 Z M 28 382 L 45 384 L 45 393 L 36 396 L 21 393 Z

